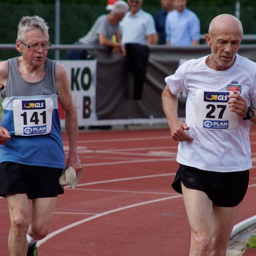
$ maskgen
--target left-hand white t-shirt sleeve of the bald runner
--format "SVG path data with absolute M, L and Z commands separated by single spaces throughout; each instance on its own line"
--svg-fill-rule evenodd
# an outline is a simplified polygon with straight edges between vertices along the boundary
M 169 86 L 172 94 L 178 95 L 183 90 L 185 90 L 185 83 L 184 83 L 184 70 L 186 68 L 186 62 L 180 65 L 176 72 L 165 78 L 166 84 Z

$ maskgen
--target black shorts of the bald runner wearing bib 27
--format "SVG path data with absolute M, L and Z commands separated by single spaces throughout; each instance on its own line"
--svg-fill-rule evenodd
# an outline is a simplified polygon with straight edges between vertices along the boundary
M 180 164 L 172 188 L 182 194 L 181 181 L 188 189 L 205 192 L 213 204 L 235 207 L 243 200 L 248 183 L 249 170 L 240 172 L 210 172 Z

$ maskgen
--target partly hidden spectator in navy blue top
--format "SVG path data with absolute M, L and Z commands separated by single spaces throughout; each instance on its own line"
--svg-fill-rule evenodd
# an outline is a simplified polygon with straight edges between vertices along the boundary
M 175 9 L 174 0 L 161 0 L 162 9 L 155 15 L 155 26 L 157 30 L 155 44 L 166 44 L 165 22 L 169 12 Z

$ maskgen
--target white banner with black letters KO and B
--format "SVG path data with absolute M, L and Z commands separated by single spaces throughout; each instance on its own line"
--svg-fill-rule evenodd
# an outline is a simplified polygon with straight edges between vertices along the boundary
M 78 125 L 92 125 L 96 120 L 96 60 L 57 62 L 67 70 L 78 114 Z M 64 127 L 64 111 L 60 105 L 59 111 L 61 127 Z

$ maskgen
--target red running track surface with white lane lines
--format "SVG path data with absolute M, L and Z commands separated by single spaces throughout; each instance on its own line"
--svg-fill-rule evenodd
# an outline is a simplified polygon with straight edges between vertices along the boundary
M 63 134 L 67 153 L 67 136 Z M 256 162 L 256 126 L 250 133 Z M 79 133 L 84 176 L 65 189 L 40 256 L 185 256 L 190 230 L 171 187 L 177 143 L 168 129 Z M 237 223 L 256 213 L 256 165 Z M 9 214 L 0 198 L 0 256 L 7 256 Z

